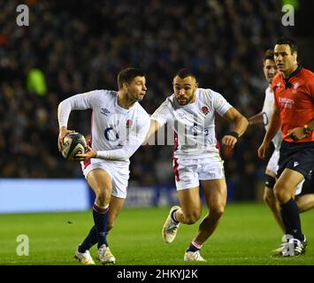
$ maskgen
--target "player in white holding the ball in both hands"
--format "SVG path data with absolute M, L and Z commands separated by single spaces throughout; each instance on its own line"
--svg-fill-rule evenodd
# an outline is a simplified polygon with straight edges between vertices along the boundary
M 96 243 L 100 262 L 115 263 L 106 233 L 112 228 L 126 199 L 129 157 L 141 146 L 149 130 L 149 115 L 138 103 L 145 96 L 145 84 L 142 70 L 127 68 L 118 75 L 119 91 L 94 90 L 69 97 L 58 106 L 59 149 L 65 135 L 73 132 L 67 129 L 70 112 L 92 110 L 88 151 L 76 155 L 88 185 L 96 194 L 94 226 L 75 253 L 82 264 L 95 264 L 89 249 Z

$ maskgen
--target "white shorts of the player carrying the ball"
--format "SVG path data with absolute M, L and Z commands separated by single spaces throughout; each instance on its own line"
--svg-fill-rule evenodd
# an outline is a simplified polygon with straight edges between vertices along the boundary
M 97 158 L 92 158 L 91 162 L 85 161 L 81 162 L 80 164 L 85 179 L 88 178 L 88 173 L 96 168 L 103 169 L 105 172 L 108 172 L 108 174 L 111 176 L 112 183 L 111 195 L 119 198 L 126 198 L 126 190 L 130 174 L 128 164 L 121 165 L 115 161 Z

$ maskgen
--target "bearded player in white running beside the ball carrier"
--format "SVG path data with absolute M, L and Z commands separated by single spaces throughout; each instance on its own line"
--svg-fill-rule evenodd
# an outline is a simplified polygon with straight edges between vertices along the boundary
M 180 223 L 194 224 L 201 217 L 201 183 L 209 212 L 191 241 L 184 260 L 204 261 L 200 249 L 217 228 L 226 206 L 226 180 L 217 148 L 215 114 L 234 124 L 233 130 L 222 139 L 223 146 L 230 149 L 234 148 L 249 122 L 223 96 L 211 89 L 198 88 L 195 75 L 187 69 L 175 74 L 173 92 L 151 116 L 147 137 L 165 123 L 172 125 L 175 133 L 173 171 L 180 207 L 172 207 L 162 234 L 164 241 L 171 243 Z

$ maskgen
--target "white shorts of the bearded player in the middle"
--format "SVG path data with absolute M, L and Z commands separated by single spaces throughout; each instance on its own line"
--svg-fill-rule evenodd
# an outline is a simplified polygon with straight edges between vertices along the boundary
M 199 180 L 225 179 L 224 161 L 218 155 L 211 158 L 173 158 L 177 190 L 198 187 Z

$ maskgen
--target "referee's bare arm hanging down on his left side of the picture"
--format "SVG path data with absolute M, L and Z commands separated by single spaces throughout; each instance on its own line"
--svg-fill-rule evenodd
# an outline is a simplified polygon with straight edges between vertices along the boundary
M 280 126 L 280 111 L 276 104 L 274 104 L 271 123 L 266 134 L 264 135 L 264 140 L 258 149 L 258 157 L 264 159 L 264 157 L 266 156 L 266 152 L 269 148 L 269 144 L 272 142 L 273 137 L 280 130 Z

